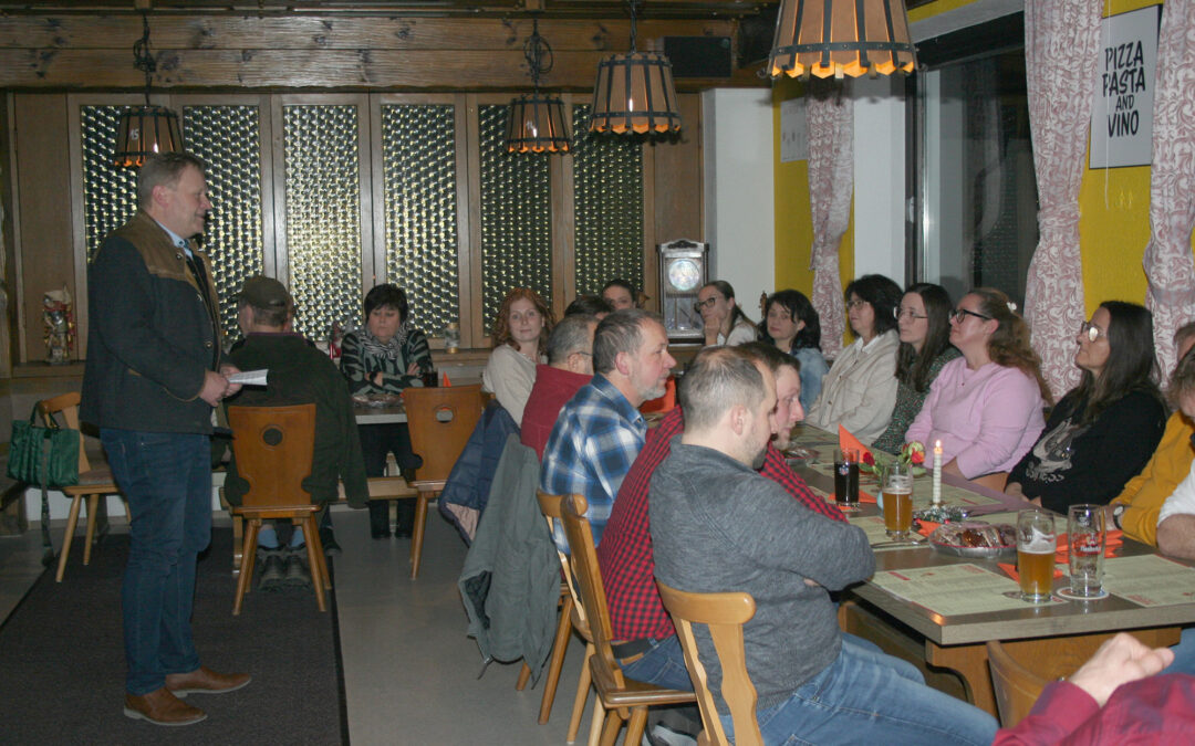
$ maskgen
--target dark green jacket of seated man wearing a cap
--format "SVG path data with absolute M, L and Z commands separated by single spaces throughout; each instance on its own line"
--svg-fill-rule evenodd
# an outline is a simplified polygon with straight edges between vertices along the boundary
M 227 400 L 227 406 L 315 405 L 315 452 L 311 476 L 304 481 L 312 499 L 336 500 L 337 483 L 343 481 L 349 505 L 364 507 L 369 487 L 353 400 L 341 371 L 327 356 L 299 334 L 250 334 L 228 358 L 240 370 L 265 368 L 270 372 L 265 388 L 246 386 Z M 225 479 L 225 498 L 232 505 L 240 505 L 247 489 L 249 482 L 237 475 L 233 458 Z

